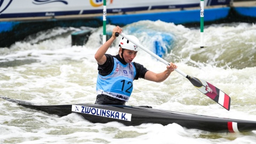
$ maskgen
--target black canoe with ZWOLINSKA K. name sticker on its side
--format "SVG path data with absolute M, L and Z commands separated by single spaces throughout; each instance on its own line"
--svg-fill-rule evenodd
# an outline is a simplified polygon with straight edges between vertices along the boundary
M 45 106 L 6 97 L 1 98 L 26 108 L 44 111 L 47 114 L 60 117 L 76 113 L 92 123 L 119 122 L 126 126 L 137 126 L 145 123 L 162 125 L 176 123 L 187 129 L 209 132 L 250 132 L 256 130 L 256 122 L 254 121 L 186 114 L 153 109 L 148 106 L 94 104 Z

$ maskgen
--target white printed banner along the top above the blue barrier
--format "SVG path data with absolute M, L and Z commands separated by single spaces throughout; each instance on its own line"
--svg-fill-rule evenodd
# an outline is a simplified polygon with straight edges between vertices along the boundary
M 230 0 L 206 0 L 227 4 Z M 199 7 L 199 0 L 107 0 L 107 12 Z M 102 13 L 103 0 L 0 0 L 0 18 Z

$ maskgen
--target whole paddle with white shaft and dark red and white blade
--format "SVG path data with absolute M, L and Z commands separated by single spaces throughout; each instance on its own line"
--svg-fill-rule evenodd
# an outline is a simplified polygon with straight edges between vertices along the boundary
M 137 42 L 133 42 L 124 33 L 121 33 L 121 34 L 116 33 L 115 35 L 116 35 L 116 37 L 118 37 L 119 35 L 123 36 L 124 38 L 128 39 L 129 41 L 131 41 L 133 44 L 135 44 L 138 47 L 140 47 L 142 50 L 146 51 L 147 53 L 149 53 L 150 55 L 152 55 L 153 57 L 155 57 L 159 61 L 163 62 L 165 65 L 167 65 L 167 66 L 170 65 L 169 62 L 167 62 L 164 59 L 160 58 L 155 53 L 149 51 L 148 49 L 146 49 L 146 47 L 142 46 L 141 44 L 139 44 Z M 208 82 L 206 82 L 206 81 L 204 81 L 202 79 L 199 79 L 199 78 L 196 78 L 196 77 L 191 77 L 191 76 L 183 73 L 179 69 L 175 69 L 175 71 L 177 71 L 182 76 L 185 76 L 196 87 L 196 89 L 201 91 L 203 94 L 207 95 L 207 97 L 209 97 L 212 100 L 214 100 L 215 102 L 219 103 L 225 109 L 227 109 L 227 110 L 230 109 L 230 97 L 226 93 L 222 92 L 220 89 L 218 89 L 214 85 L 212 85 L 212 84 L 210 84 L 210 83 L 208 83 Z

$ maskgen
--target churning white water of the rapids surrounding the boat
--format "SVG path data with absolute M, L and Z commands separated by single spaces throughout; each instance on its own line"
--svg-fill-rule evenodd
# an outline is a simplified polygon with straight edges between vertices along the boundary
M 85 46 L 71 46 L 70 33 L 81 29 L 54 28 L 35 38 L 27 37 L 10 49 L 0 49 L 0 95 L 39 105 L 94 103 L 98 73 L 94 53 L 100 46 L 102 28 L 94 29 Z M 200 34 L 195 28 L 140 21 L 123 29 L 125 34 L 139 37 L 150 50 L 155 37 L 147 32 L 171 33 L 173 50 L 164 59 L 175 62 L 186 74 L 217 86 L 231 98 L 227 111 L 195 89 L 187 78 L 173 72 L 162 83 L 134 81 L 126 105 L 256 121 L 255 25 L 206 27 L 204 49 L 199 48 Z M 117 47 L 115 43 L 108 53 L 115 55 Z M 156 73 L 166 67 L 142 50 L 134 61 Z M 0 100 L 0 109 L 0 143 L 256 143 L 256 131 L 212 133 L 177 124 L 93 124 L 76 114 L 58 117 L 5 100 Z

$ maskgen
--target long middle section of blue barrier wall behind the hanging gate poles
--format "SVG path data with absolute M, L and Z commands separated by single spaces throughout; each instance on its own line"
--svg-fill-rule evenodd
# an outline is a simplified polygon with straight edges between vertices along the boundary
M 229 13 L 230 7 L 207 9 L 205 10 L 204 21 L 215 21 L 224 19 Z M 115 25 L 128 25 L 140 20 L 161 20 L 164 22 L 173 22 L 175 24 L 185 24 L 192 22 L 200 22 L 200 10 L 186 10 L 186 11 L 170 11 L 158 13 L 143 13 L 143 14 L 124 14 L 124 15 L 110 15 L 107 17 L 107 23 Z M 102 17 L 98 17 L 102 19 Z

